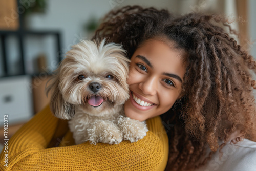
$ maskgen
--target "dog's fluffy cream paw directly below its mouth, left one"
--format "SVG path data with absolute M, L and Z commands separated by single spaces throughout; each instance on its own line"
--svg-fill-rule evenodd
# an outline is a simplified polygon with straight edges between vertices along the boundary
M 89 141 L 96 145 L 98 142 L 106 144 L 119 144 L 123 140 L 123 134 L 112 122 L 101 122 L 88 129 Z

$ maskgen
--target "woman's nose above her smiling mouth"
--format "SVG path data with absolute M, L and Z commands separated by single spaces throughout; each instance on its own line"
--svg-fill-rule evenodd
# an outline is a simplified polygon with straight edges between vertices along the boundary
M 139 89 L 145 95 L 155 95 L 157 92 L 157 80 L 155 77 L 147 78 L 139 83 Z

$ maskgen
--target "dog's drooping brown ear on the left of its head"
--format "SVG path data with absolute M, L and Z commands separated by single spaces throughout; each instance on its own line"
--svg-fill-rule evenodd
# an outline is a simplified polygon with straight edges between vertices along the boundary
M 54 76 L 50 81 L 50 85 L 46 87 L 46 94 L 51 91 L 50 109 L 54 116 L 60 119 L 71 119 L 75 115 L 75 106 L 68 103 L 62 97 L 59 91 L 58 75 Z M 48 83 L 47 83 L 48 84 Z

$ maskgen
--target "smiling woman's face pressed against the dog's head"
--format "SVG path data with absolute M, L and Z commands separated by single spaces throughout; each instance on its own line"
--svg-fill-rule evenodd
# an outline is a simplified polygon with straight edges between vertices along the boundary
M 178 51 L 163 41 L 144 42 L 131 58 L 126 116 L 143 121 L 167 112 L 180 98 L 184 74 Z

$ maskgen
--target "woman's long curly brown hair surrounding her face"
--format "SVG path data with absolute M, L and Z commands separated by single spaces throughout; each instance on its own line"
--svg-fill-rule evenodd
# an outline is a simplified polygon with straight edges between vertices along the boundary
M 166 124 L 175 123 L 172 129 L 166 129 L 166 170 L 198 168 L 235 131 L 256 140 L 252 93 L 256 82 L 251 76 L 256 72 L 256 62 L 226 33 L 225 27 L 234 33 L 218 15 L 174 16 L 167 10 L 126 6 L 108 13 L 93 37 L 122 44 L 129 58 L 138 46 L 152 38 L 171 42 L 182 53 L 186 66 L 182 105 L 161 116 Z M 218 140 L 223 142 L 220 146 Z M 234 142 L 238 141 L 241 138 Z

